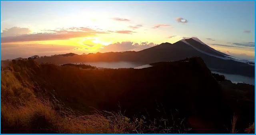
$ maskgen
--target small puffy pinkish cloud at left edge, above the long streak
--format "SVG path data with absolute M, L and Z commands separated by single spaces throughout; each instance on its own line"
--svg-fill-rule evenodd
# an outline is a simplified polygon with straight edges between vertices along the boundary
M 22 34 L 28 34 L 31 30 L 29 28 L 12 27 L 10 29 L 4 29 L 1 33 L 1 37 L 17 36 Z

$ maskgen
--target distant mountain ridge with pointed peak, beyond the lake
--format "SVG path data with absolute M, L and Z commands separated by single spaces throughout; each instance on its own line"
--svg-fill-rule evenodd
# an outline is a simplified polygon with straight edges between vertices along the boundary
M 185 43 L 186 42 L 186 43 Z M 190 44 L 190 45 L 188 45 Z M 199 51 L 198 51 L 199 50 Z M 174 44 L 162 43 L 158 46 L 148 48 L 139 52 L 108 52 L 88 55 L 74 55 L 71 57 L 52 56 L 36 59 L 37 62 L 54 62 L 57 64 L 80 63 L 80 62 L 137 62 L 150 64 L 164 61 L 177 61 L 188 57 L 201 57 L 207 67 L 220 70 L 223 73 L 244 75 L 254 77 L 253 65 L 237 62 L 228 55 L 218 52 L 206 44 L 194 39 L 185 39 Z M 227 59 L 227 60 L 226 60 Z

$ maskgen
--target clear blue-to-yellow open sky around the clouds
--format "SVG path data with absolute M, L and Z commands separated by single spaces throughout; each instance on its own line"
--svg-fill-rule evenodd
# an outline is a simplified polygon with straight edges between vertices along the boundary
M 168 38 L 170 36 L 197 36 L 216 50 L 234 55 L 246 54 L 251 59 L 254 58 L 255 44 L 254 10 L 254 1 L 2 1 L 1 32 L 13 27 L 27 28 L 29 32 L 20 33 L 21 30 L 13 28 L 5 35 L 15 36 L 18 31 L 19 34 L 33 35 L 45 32 L 42 30 L 72 27 L 122 31 L 107 36 L 96 35 L 100 42 L 113 44 L 124 41 L 160 44 L 175 42 L 175 38 Z M 111 18 L 129 21 L 114 21 Z M 176 18 L 188 22 L 178 22 Z M 166 26 L 152 28 L 160 24 Z M 143 27 L 136 30 L 129 27 L 136 25 Z M 131 31 L 132 34 L 124 34 L 124 31 Z M 36 44 L 58 44 L 57 40 L 53 42 L 54 39 L 51 42 L 43 41 L 37 41 Z M 21 44 L 21 41 L 17 44 Z M 22 44 L 35 42 L 22 41 Z M 71 46 L 71 43 L 60 44 Z M 245 48 L 238 48 L 241 46 Z

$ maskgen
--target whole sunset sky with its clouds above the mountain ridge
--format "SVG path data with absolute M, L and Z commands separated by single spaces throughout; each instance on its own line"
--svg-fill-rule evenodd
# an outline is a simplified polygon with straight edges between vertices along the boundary
M 1 60 L 148 48 L 197 37 L 254 60 L 254 1 L 1 1 Z

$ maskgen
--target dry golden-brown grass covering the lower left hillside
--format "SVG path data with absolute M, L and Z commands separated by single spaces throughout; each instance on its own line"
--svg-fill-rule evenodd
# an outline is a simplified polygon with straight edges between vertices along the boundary
M 131 121 L 121 112 L 77 116 L 64 111 L 68 109 L 56 111 L 58 104 L 36 97 L 13 72 L 5 70 L 1 75 L 1 133 L 174 133 L 174 127 L 156 131 L 156 126 L 146 126 L 142 119 Z

